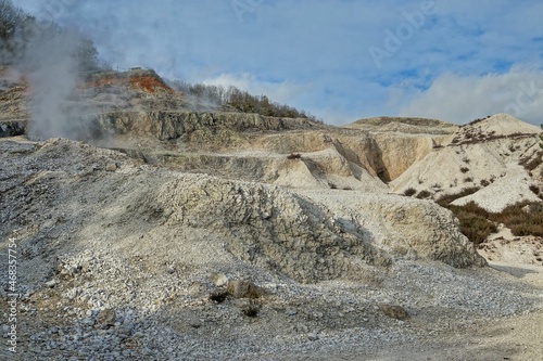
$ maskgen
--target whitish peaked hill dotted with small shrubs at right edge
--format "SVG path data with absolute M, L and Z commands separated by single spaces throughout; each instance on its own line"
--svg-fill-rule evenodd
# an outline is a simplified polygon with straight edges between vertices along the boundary
M 494 212 L 520 202 L 540 202 L 540 128 L 506 114 L 469 124 L 395 179 L 392 190 L 439 199 L 470 189 L 471 194 L 453 204 L 473 201 Z

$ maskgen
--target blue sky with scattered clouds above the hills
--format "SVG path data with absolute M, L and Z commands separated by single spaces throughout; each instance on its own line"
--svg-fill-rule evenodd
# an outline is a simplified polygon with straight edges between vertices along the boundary
M 343 125 L 543 121 L 540 0 L 14 0 L 114 68 L 233 85 Z

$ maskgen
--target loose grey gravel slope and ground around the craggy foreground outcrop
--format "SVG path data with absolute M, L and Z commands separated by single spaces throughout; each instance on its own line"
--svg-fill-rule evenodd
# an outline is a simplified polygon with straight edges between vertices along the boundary
M 9 142 L 0 145 L 13 157 L 37 152 L 36 143 Z M 38 163 L 10 164 L 0 172 L 0 261 L 8 274 L 15 244 L 21 294 L 13 353 L 8 350 L 12 292 L 2 276 L 2 358 L 538 360 L 542 354 L 543 267 L 526 266 L 515 252 L 500 265 L 468 269 L 394 258 L 364 268 L 359 280 L 303 284 L 235 257 L 211 228 L 169 227 L 149 212 L 152 205 L 141 212 L 137 205 L 147 198 L 130 198 L 132 188 L 152 189 L 150 182 L 174 173 L 83 144 L 52 142 L 40 152 Z M 53 162 L 51 152 L 65 152 L 65 164 Z M 538 246 L 542 240 L 530 242 Z

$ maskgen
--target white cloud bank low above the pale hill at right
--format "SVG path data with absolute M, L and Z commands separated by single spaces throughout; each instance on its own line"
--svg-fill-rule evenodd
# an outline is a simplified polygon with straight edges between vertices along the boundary
M 427 90 L 406 98 L 407 102 L 399 111 L 401 116 L 464 124 L 487 115 L 508 113 L 539 125 L 543 120 L 543 72 L 514 67 L 501 75 L 444 74 Z

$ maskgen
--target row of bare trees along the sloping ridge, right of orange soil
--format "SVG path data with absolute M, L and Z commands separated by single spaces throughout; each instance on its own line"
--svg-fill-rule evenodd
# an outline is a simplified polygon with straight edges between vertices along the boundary
M 306 118 L 321 123 L 321 120 L 305 111 L 299 111 L 286 104 L 272 102 L 266 95 L 252 95 L 248 91 L 233 86 L 192 85 L 185 81 L 173 81 L 172 86 L 204 104 L 229 106 L 239 112 L 256 113 L 264 116 Z

